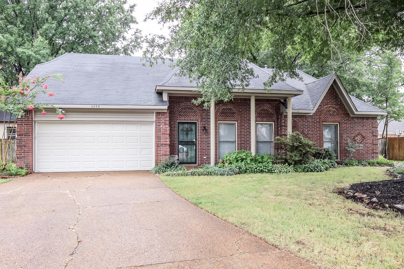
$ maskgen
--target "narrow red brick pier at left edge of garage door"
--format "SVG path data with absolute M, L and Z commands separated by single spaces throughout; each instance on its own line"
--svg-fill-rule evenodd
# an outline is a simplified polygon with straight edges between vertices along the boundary
M 33 116 L 32 110 L 25 111 L 25 115 L 17 119 L 17 166 L 33 168 Z

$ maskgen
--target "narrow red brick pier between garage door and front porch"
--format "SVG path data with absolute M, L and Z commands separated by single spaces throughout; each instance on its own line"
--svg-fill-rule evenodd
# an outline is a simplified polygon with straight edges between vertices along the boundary
M 156 112 L 156 164 L 162 162 L 164 158 L 170 155 L 170 126 L 168 120 L 168 112 Z

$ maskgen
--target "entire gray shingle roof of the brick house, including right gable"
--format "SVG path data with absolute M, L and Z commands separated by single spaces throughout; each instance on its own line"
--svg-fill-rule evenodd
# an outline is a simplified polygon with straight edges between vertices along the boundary
M 261 68 L 249 63 L 257 76 L 250 80 L 246 89 L 264 90 L 264 82 L 274 69 Z M 36 65 L 29 75 L 47 76 L 60 73 L 65 83 L 51 78 L 47 83 L 55 96 L 38 95 L 37 103 L 53 104 L 94 104 L 94 105 L 168 105 L 164 101 L 160 88 L 196 87 L 188 78 L 176 76 L 178 69 L 158 61 L 153 67 L 142 63 L 141 57 L 119 55 L 97 55 L 82 53 L 65 53 L 52 61 Z M 348 95 L 343 89 L 338 76 L 330 74 L 316 79 L 303 71 L 297 70 L 301 80 L 286 78 L 285 82 L 274 83 L 270 90 L 292 91 L 292 109 L 301 113 L 315 111 L 331 83 L 336 82 L 341 99 L 351 114 L 383 114 L 385 111 L 373 107 L 355 97 Z M 286 107 L 286 104 L 285 104 Z

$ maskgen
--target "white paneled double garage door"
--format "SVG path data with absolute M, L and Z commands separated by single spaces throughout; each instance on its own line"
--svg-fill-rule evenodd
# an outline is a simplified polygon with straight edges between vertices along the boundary
M 36 172 L 149 170 L 153 122 L 37 122 Z

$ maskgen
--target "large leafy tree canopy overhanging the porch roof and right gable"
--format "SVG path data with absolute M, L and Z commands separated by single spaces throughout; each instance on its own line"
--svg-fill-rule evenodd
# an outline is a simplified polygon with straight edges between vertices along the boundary
M 170 24 L 171 34 L 149 38 L 144 54 L 181 56 L 179 75 L 198 82 L 208 103 L 231 99 L 231 88 L 254 76 L 247 61 L 276 68 L 269 86 L 306 63 L 341 57 L 379 45 L 403 52 L 402 0 L 165 0 L 151 19 Z M 207 104 L 208 105 L 208 104 Z

